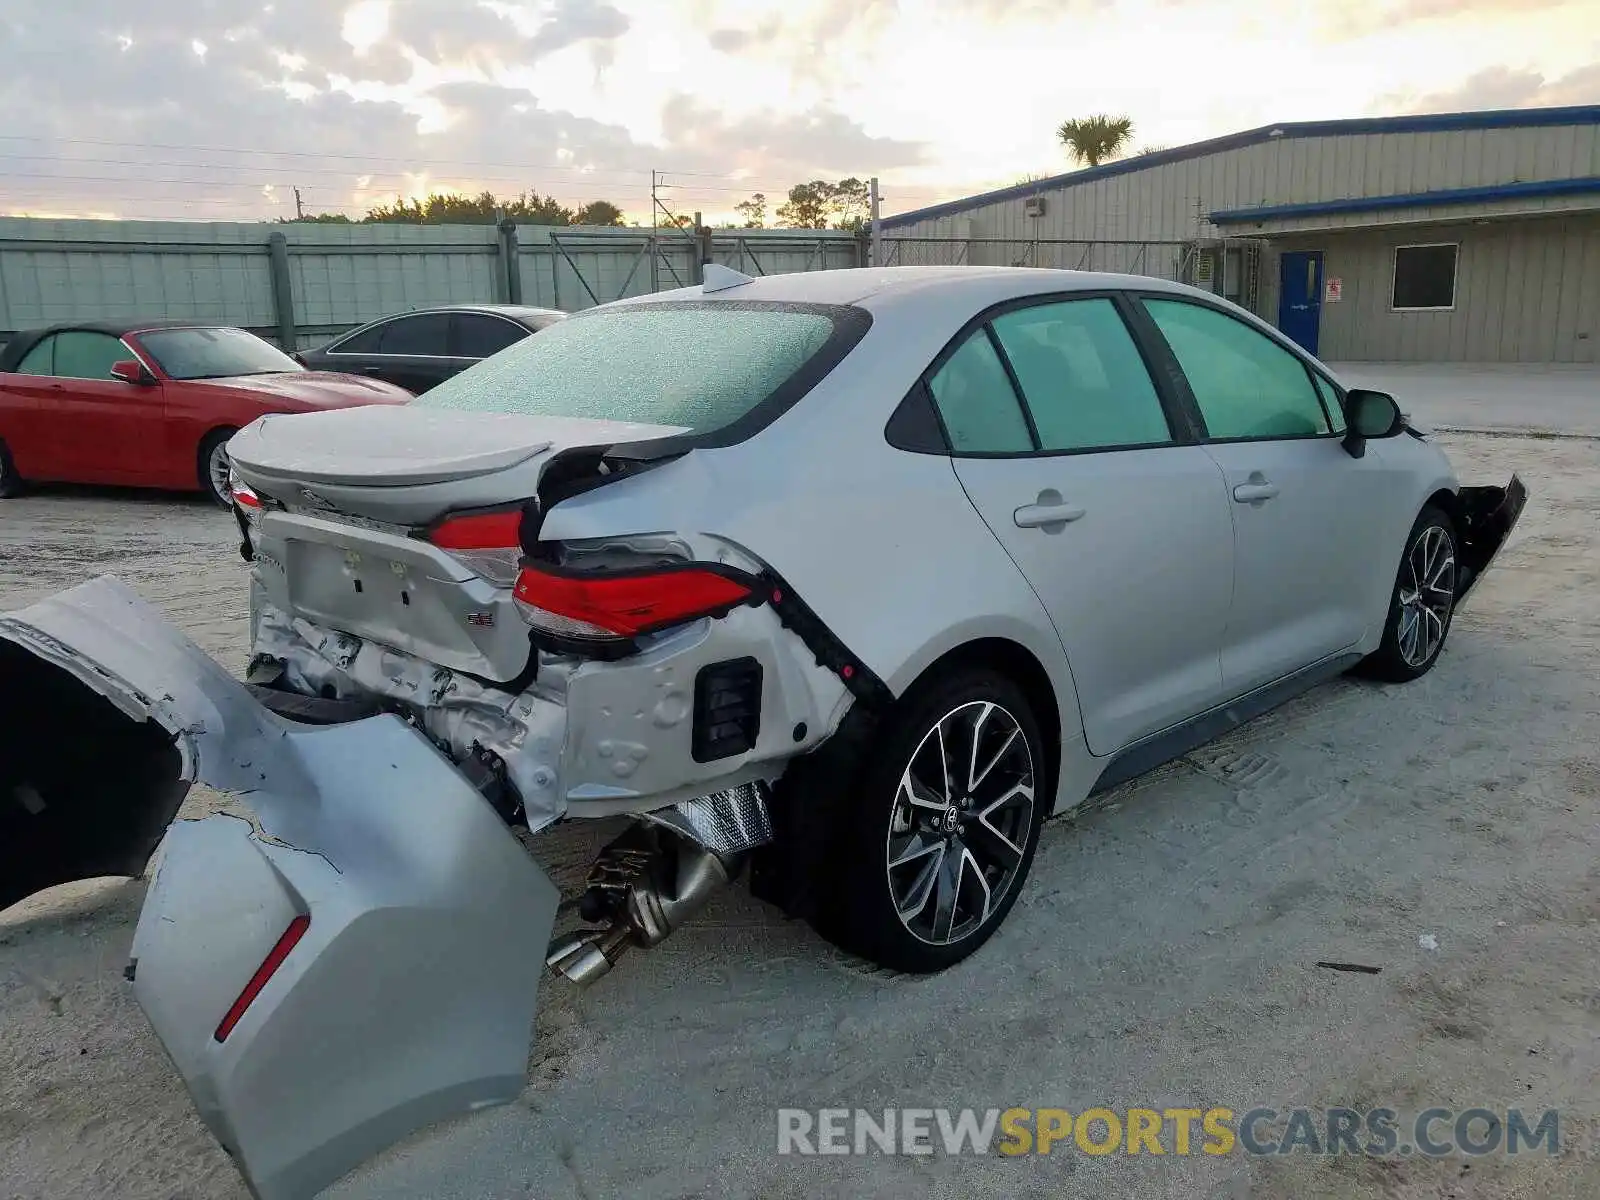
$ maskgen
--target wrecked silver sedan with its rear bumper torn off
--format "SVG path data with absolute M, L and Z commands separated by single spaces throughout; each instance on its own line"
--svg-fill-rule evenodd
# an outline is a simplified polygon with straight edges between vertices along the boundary
M 1211 294 L 1016 269 L 707 267 L 229 456 L 245 680 L 110 579 L 0 618 L 0 906 L 162 843 L 128 974 L 264 1200 L 514 1098 L 547 965 L 741 874 L 960 962 L 1051 813 L 1432 669 L 1526 499 Z M 518 834 L 613 816 L 552 941 Z

